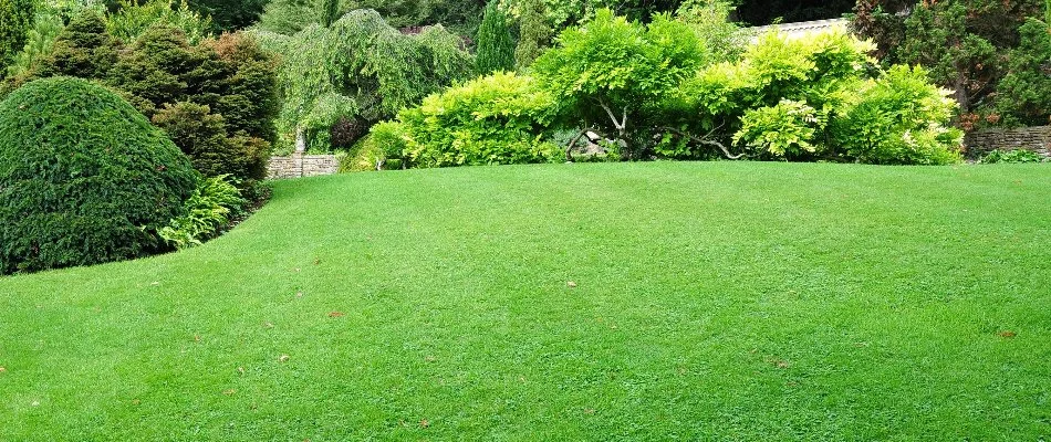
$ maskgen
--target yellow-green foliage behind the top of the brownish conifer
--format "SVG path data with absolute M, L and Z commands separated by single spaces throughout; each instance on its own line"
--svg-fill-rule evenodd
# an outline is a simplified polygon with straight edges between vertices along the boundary
M 123 42 L 132 42 L 155 24 L 177 28 L 190 44 L 209 36 L 211 19 L 201 17 L 186 0 L 121 0 L 117 12 L 106 18 L 110 34 Z

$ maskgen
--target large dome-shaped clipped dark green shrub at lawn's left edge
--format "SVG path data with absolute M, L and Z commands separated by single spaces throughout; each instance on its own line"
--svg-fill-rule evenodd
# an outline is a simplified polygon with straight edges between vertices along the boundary
M 0 103 L 0 273 L 165 250 L 198 173 L 127 102 L 72 77 L 28 83 Z

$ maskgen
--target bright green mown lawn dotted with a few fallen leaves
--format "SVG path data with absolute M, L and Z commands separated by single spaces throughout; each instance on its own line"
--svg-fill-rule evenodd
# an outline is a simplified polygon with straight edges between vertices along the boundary
M 1049 192 L 1047 166 L 279 182 L 202 248 L 0 278 L 0 440 L 1051 439 Z

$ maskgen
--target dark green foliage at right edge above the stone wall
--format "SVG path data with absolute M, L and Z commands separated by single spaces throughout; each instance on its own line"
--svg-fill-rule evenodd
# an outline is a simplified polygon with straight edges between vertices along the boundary
M 1019 29 L 1019 45 L 997 84 L 996 109 L 1007 125 L 1040 126 L 1051 116 L 1051 34 L 1048 24 L 1029 19 Z

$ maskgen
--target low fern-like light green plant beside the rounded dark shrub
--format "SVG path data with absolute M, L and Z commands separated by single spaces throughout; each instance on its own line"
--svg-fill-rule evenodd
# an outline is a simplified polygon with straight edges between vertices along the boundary
M 184 214 L 171 219 L 157 234 L 176 249 L 201 245 L 222 233 L 246 204 L 229 175 L 206 178 L 186 199 Z

